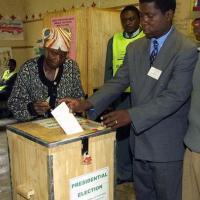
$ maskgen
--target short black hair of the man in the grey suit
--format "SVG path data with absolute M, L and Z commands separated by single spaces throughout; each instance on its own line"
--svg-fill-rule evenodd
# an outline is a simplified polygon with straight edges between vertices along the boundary
M 151 3 L 154 2 L 156 8 L 165 13 L 168 10 L 176 10 L 176 0 L 139 0 L 139 3 Z

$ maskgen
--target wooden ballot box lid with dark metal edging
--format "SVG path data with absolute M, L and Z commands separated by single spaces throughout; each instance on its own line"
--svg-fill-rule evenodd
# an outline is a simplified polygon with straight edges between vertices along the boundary
M 65 134 L 54 118 L 12 124 L 7 126 L 7 130 L 46 147 L 55 147 L 111 132 L 111 129 L 100 123 L 80 117 L 77 119 L 84 131 L 70 135 Z

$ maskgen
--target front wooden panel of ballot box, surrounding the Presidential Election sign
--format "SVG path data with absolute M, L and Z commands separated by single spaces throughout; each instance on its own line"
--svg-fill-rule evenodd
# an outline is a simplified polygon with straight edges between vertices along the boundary
M 89 138 L 89 155 L 92 157 L 90 165 L 82 163 L 80 142 L 51 149 L 51 154 L 55 155 L 53 161 L 55 199 L 69 199 L 69 180 L 71 178 L 86 175 L 104 167 L 109 167 L 109 199 L 113 199 L 114 137 L 115 134 L 110 133 Z M 65 163 L 65 165 L 61 163 Z M 60 176 L 61 174 L 62 176 Z

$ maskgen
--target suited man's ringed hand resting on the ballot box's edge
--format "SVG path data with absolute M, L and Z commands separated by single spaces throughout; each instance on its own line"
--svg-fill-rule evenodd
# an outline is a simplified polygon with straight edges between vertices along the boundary
M 103 125 L 110 128 L 119 128 L 131 123 L 131 117 L 127 110 L 110 112 L 101 117 Z

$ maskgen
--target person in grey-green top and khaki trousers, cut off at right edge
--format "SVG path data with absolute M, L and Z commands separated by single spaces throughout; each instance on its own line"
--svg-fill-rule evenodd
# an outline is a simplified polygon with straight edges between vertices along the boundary
M 200 15 L 192 22 L 193 32 L 200 41 Z M 193 92 L 189 127 L 184 138 L 187 149 L 183 166 L 183 200 L 200 199 L 200 59 L 193 75 Z

